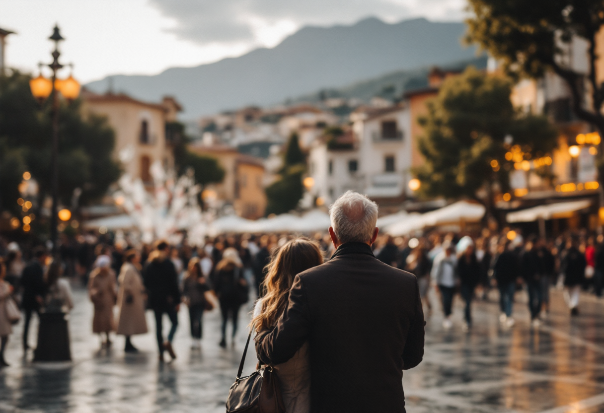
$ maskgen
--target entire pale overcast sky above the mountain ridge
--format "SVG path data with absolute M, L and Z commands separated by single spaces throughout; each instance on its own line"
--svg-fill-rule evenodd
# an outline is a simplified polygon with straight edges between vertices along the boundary
M 304 25 L 426 17 L 461 21 L 465 0 L 0 0 L 7 65 L 36 71 L 50 59 L 55 23 L 63 62 L 89 82 L 109 74 L 156 74 L 272 47 Z

